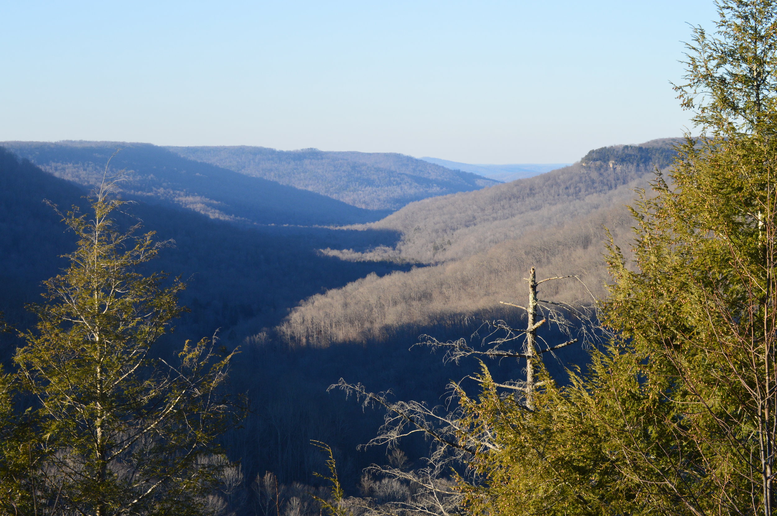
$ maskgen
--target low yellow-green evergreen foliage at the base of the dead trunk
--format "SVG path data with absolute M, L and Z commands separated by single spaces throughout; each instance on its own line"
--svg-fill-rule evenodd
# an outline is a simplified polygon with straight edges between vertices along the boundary
M 477 399 L 459 391 L 466 434 L 487 436 L 469 459 L 474 481 L 458 476 L 469 514 L 636 514 L 628 479 L 608 452 L 606 433 L 589 416 L 596 398 L 574 377 L 559 387 L 542 362 L 535 410 L 500 392 L 483 365 Z M 461 438 L 467 438 L 462 434 Z

